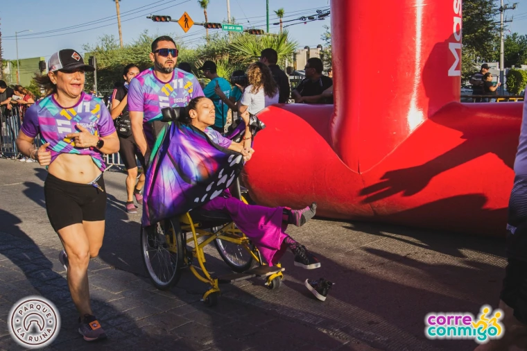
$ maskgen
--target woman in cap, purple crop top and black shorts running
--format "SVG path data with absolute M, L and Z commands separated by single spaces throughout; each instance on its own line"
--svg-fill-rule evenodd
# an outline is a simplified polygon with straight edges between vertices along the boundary
M 88 264 L 103 244 L 106 192 L 103 154 L 119 151 L 110 112 L 101 99 L 83 92 L 85 65 L 72 49 L 54 53 L 49 72 L 35 78 L 51 94 L 28 108 L 17 139 L 21 153 L 48 166 L 44 182 L 46 211 L 64 250 L 71 299 L 77 307 L 80 334 L 86 341 L 106 334 L 89 303 Z M 40 134 L 46 144 L 35 148 Z

